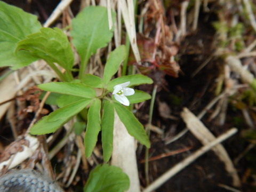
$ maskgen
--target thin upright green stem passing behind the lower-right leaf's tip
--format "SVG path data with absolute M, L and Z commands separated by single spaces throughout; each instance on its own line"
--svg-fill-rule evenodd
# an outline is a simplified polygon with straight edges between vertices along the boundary
M 150 107 L 149 107 L 148 127 L 147 127 L 147 130 L 146 130 L 148 138 L 150 136 L 150 126 L 151 126 L 151 122 L 152 122 L 154 103 L 155 103 L 155 99 L 156 99 L 156 90 L 157 90 L 157 85 L 154 86 L 154 90 L 152 92 L 152 98 L 151 98 L 151 102 L 150 102 Z M 145 177 L 146 177 L 146 184 L 147 184 L 147 186 L 149 185 L 148 150 L 149 150 L 149 148 L 146 148 L 146 151 L 145 151 Z

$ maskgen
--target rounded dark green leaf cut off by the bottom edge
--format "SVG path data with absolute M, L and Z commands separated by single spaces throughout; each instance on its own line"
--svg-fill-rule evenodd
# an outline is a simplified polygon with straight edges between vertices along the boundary
M 117 166 L 98 165 L 89 175 L 84 192 L 124 192 L 129 189 L 129 177 Z

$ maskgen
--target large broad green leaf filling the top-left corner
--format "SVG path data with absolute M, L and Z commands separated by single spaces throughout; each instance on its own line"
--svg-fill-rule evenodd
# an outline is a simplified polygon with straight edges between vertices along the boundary
M 14 54 L 16 43 L 41 28 L 37 17 L 18 7 L 0 1 L 0 67 L 11 66 L 18 69 L 36 61 L 25 51 Z

